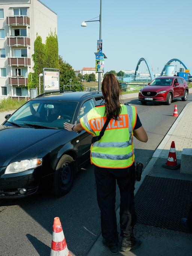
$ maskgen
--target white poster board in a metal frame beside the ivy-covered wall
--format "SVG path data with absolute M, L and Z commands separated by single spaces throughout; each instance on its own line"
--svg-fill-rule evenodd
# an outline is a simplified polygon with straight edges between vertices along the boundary
M 59 71 L 45 71 L 44 77 L 44 91 L 59 91 Z

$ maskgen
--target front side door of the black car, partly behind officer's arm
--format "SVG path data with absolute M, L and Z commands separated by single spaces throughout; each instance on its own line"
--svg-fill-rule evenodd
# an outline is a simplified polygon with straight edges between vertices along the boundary
M 93 107 L 95 107 L 93 99 L 84 101 L 80 107 L 77 122 L 79 122 L 80 118 L 82 118 L 86 113 L 88 113 L 89 110 L 91 110 Z M 81 151 L 80 158 L 81 158 L 81 163 L 83 163 L 90 158 L 92 134 L 89 134 L 88 132 L 83 130 L 79 133 L 79 136 L 80 136 L 80 151 Z

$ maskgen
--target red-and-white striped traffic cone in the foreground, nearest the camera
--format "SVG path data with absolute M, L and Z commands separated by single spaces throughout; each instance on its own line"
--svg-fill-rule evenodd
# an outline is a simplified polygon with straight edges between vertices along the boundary
M 51 256 L 71 256 L 65 237 L 63 234 L 63 229 L 61 226 L 60 218 L 54 218 L 52 243 L 51 243 Z

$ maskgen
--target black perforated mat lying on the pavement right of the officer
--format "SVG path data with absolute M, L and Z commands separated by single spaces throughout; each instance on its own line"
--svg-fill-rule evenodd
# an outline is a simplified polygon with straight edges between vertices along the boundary
M 147 175 L 135 195 L 137 222 L 185 231 L 180 220 L 188 216 L 191 202 L 192 181 Z

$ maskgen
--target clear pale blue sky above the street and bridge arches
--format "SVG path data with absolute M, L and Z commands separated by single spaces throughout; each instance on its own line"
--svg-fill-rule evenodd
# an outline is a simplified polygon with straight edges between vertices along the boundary
M 99 15 L 100 0 L 41 1 L 58 15 L 59 54 L 63 59 L 74 69 L 94 67 L 99 22 L 80 25 Z M 191 0 L 102 2 L 105 72 L 134 70 L 141 57 L 149 61 L 155 73 L 172 58 L 192 68 Z M 173 64 L 178 70 L 179 63 Z M 143 62 L 139 70 L 146 71 Z

